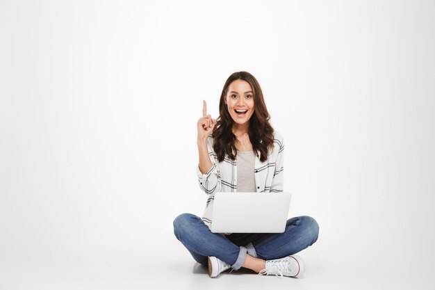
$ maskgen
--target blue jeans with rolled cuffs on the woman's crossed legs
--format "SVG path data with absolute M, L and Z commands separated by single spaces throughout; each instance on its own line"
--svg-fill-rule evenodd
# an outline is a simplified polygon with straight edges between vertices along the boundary
M 181 214 L 174 220 L 174 234 L 188 249 L 193 259 L 207 265 L 207 257 L 214 256 L 238 270 L 246 255 L 270 260 L 293 255 L 318 239 L 319 225 L 314 218 L 299 216 L 287 220 L 281 234 L 216 234 L 201 218 Z

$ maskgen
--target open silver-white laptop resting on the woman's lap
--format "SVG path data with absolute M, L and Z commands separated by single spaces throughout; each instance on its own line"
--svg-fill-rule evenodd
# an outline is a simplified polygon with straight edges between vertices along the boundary
M 211 232 L 281 233 L 291 193 L 215 193 Z

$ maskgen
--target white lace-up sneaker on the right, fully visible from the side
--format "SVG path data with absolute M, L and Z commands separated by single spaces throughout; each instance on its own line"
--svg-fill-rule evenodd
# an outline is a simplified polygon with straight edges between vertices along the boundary
M 266 267 L 258 275 L 280 275 L 281 277 L 302 277 L 305 272 L 304 260 L 297 255 L 266 261 Z

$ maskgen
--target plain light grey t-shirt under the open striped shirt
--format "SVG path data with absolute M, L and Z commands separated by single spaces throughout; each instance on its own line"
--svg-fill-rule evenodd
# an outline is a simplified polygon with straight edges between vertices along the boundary
M 256 192 L 254 165 L 254 151 L 237 152 L 237 191 L 239 193 Z

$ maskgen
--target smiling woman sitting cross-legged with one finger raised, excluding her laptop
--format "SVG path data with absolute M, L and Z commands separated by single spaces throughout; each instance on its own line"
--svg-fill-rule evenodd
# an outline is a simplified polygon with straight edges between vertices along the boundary
M 197 122 L 199 187 L 208 195 L 202 218 L 181 214 L 174 234 L 192 257 L 216 277 L 229 268 L 249 268 L 263 275 L 302 277 L 304 262 L 295 253 L 318 239 L 318 224 L 309 216 L 290 218 L 282 234 L 215 234 L 213 195 L 219 191 L 282 192 L 284 140 L 269 123 L 258 81 L 235 72 L 224 84 L 217 120 L 207 114 Z

